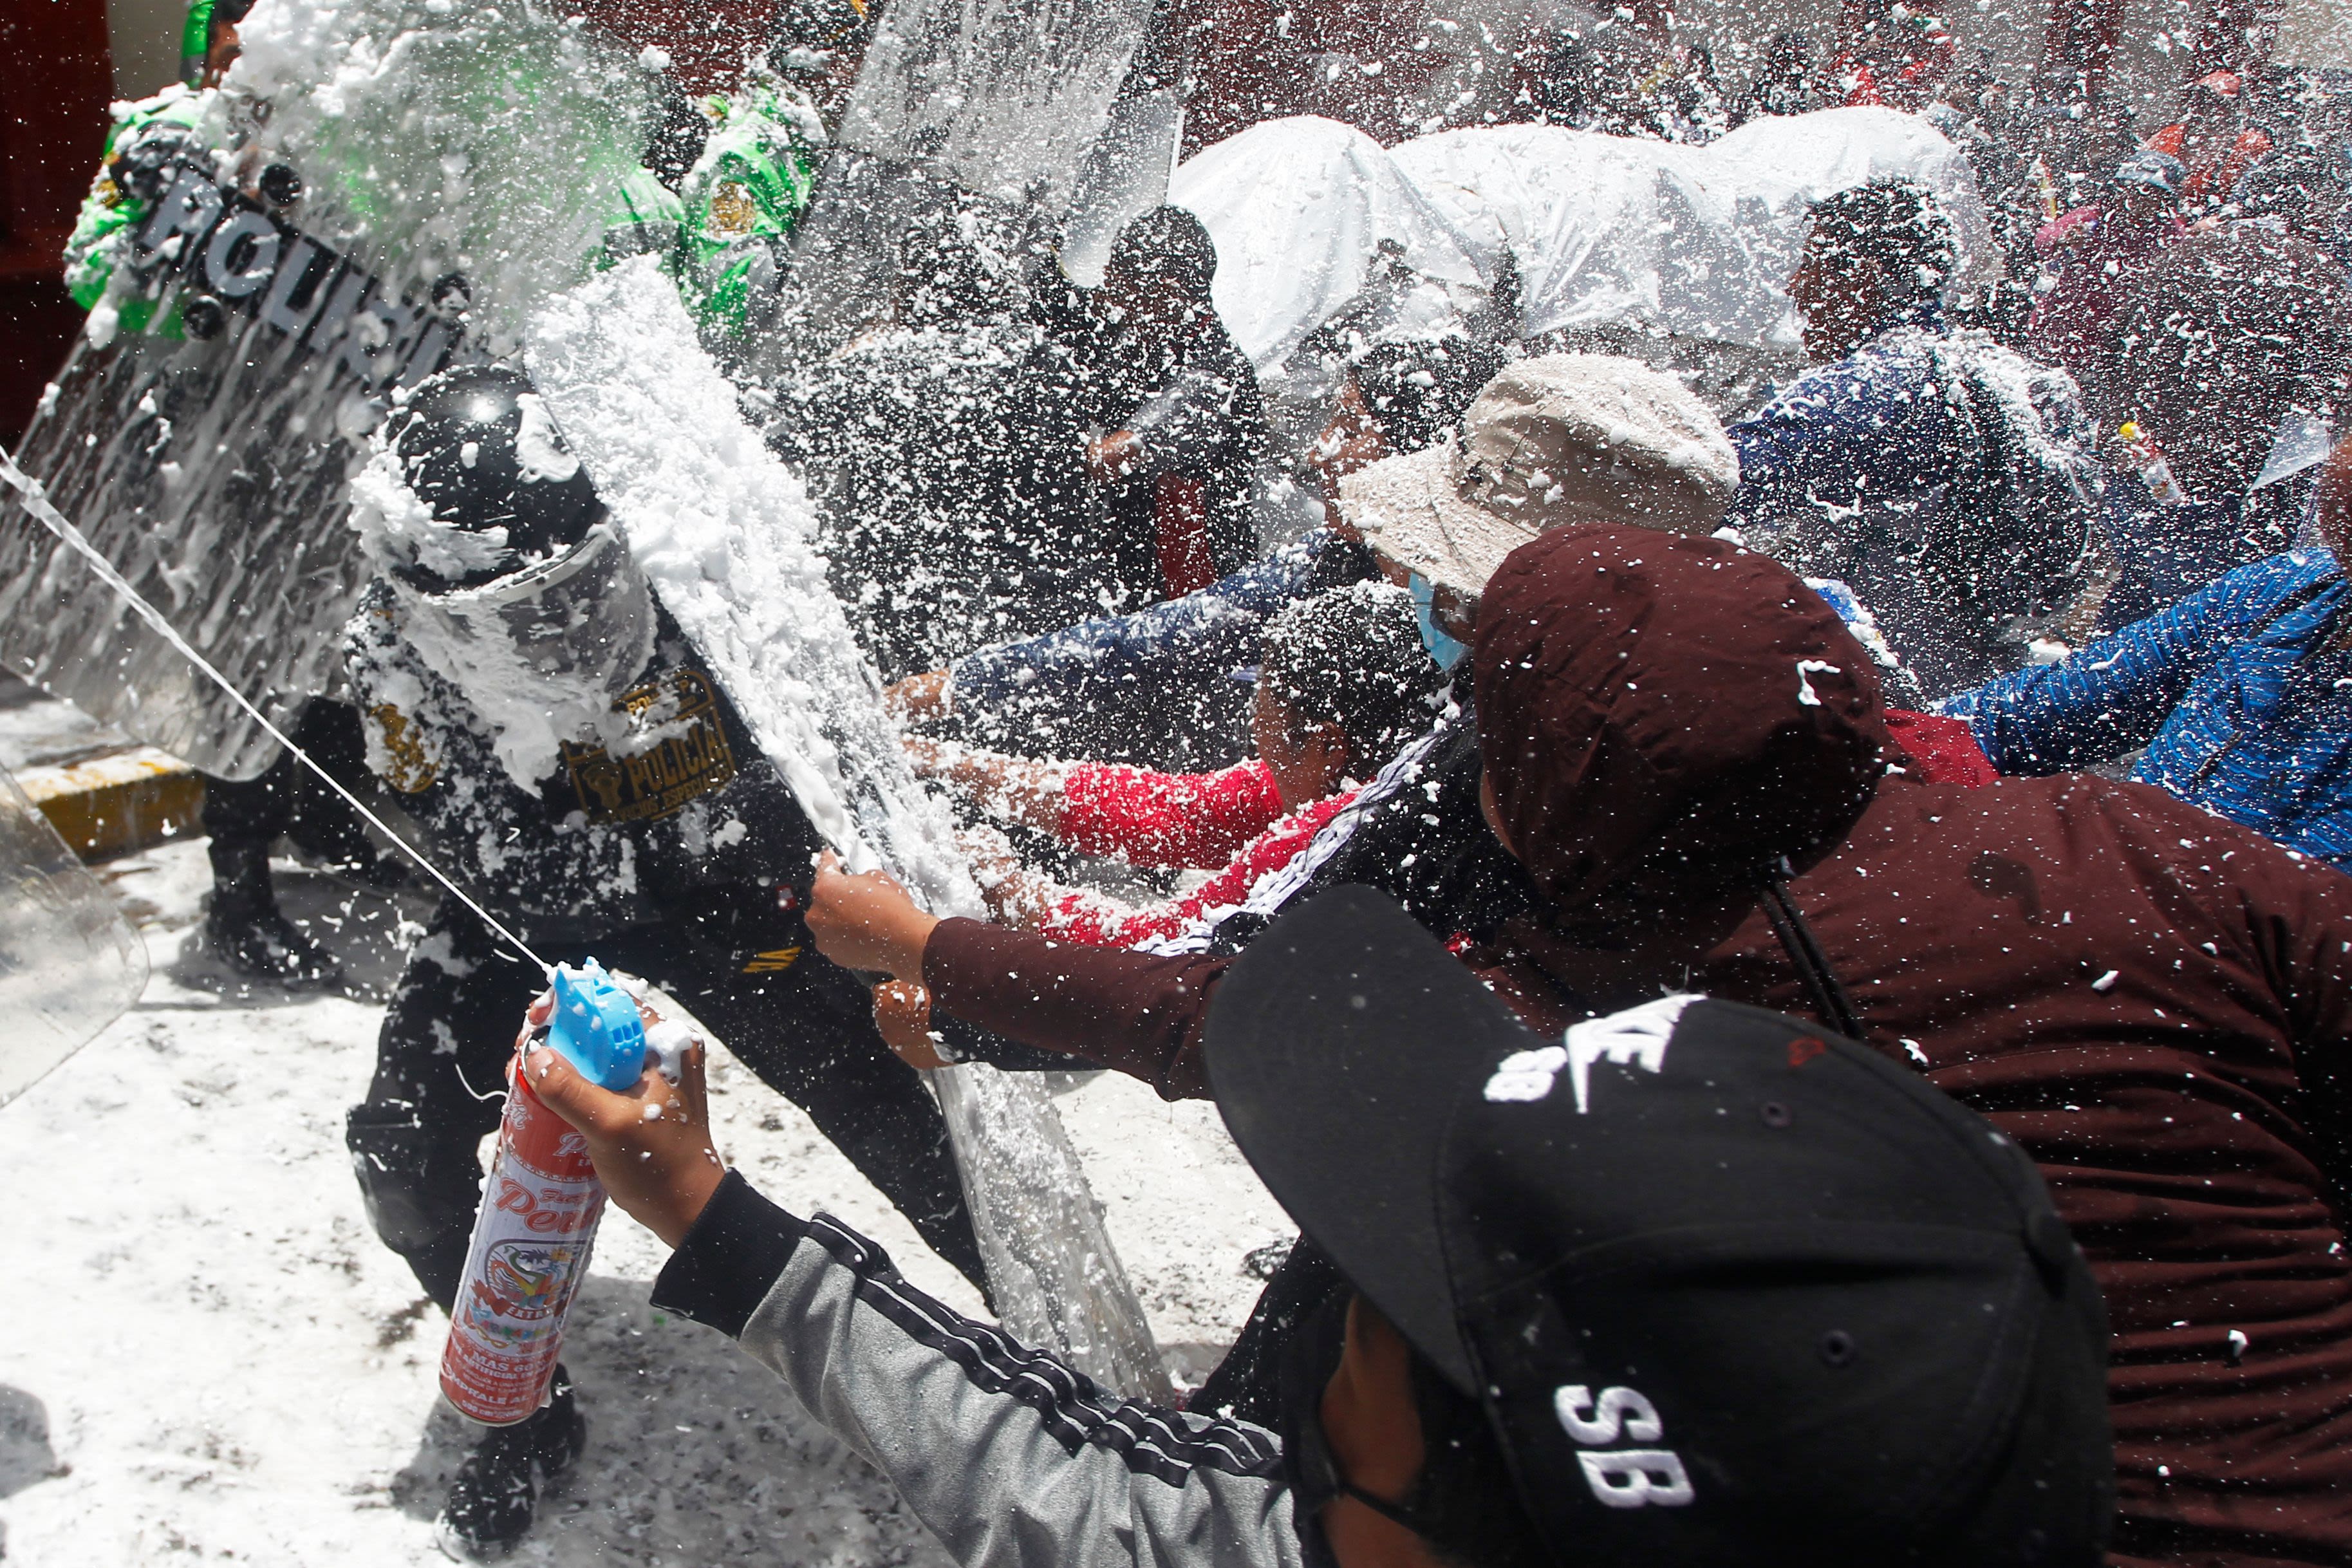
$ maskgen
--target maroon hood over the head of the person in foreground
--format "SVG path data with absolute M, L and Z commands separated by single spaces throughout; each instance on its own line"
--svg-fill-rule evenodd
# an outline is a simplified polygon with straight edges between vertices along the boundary
M 1569 907 L 1804 870 L 1903 759 L 1837 611 L 1719 538 L 1590 524 L 1512 550 L 1475 679 L 1503 827 Z

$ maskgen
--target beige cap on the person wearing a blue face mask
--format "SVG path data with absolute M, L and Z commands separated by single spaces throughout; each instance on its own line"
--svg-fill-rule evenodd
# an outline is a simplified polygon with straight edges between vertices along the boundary
M 1345 475 L 1338 508 L 1364 543 L 1468 607 L 1538 534 L 1578 522 L 1712 534 L 1738 484 L 1724 428 L 1672 376 L 1613 355 L 1541 355 L 1486 383 L 1458 440 Z

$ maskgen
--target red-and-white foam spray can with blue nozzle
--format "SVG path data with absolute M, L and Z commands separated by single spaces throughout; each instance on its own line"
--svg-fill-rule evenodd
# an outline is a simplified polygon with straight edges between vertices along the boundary
M 644 1074 L 637 999 L 595 959 L 586 969 L 560 964 L 548 1023 L 515 1041 L 499 1154 L 442 1349 L 442 1394 L 487 1427 L 510 1427 L 548 1401 L 564 1314 L 604 1215 L 588 1145 L 522 1074 L 522 1056 L 539 1044 L 602 1088 L 621 1091 Z

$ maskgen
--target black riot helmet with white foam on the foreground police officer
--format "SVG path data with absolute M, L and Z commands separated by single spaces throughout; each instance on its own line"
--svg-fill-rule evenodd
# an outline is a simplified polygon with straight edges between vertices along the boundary
M 604 515 L 529 376 L 508 364 L 428 378 L 393 411 L 388 437 L 400 477 L 437 522 L 468 534 L 506 529 L 506 557 L 449 588 L 562 555 Z

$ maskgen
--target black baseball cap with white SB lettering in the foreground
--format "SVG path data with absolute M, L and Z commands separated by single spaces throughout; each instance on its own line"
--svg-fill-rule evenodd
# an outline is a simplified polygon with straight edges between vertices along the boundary
M 1703 997 L 1531 1034 L 1362 886 L 1251 943 L 1204 1056 L 1559 1561 L 2100 1561 L 2098 1286 L 2025 1152 L 1917 1072 Z

